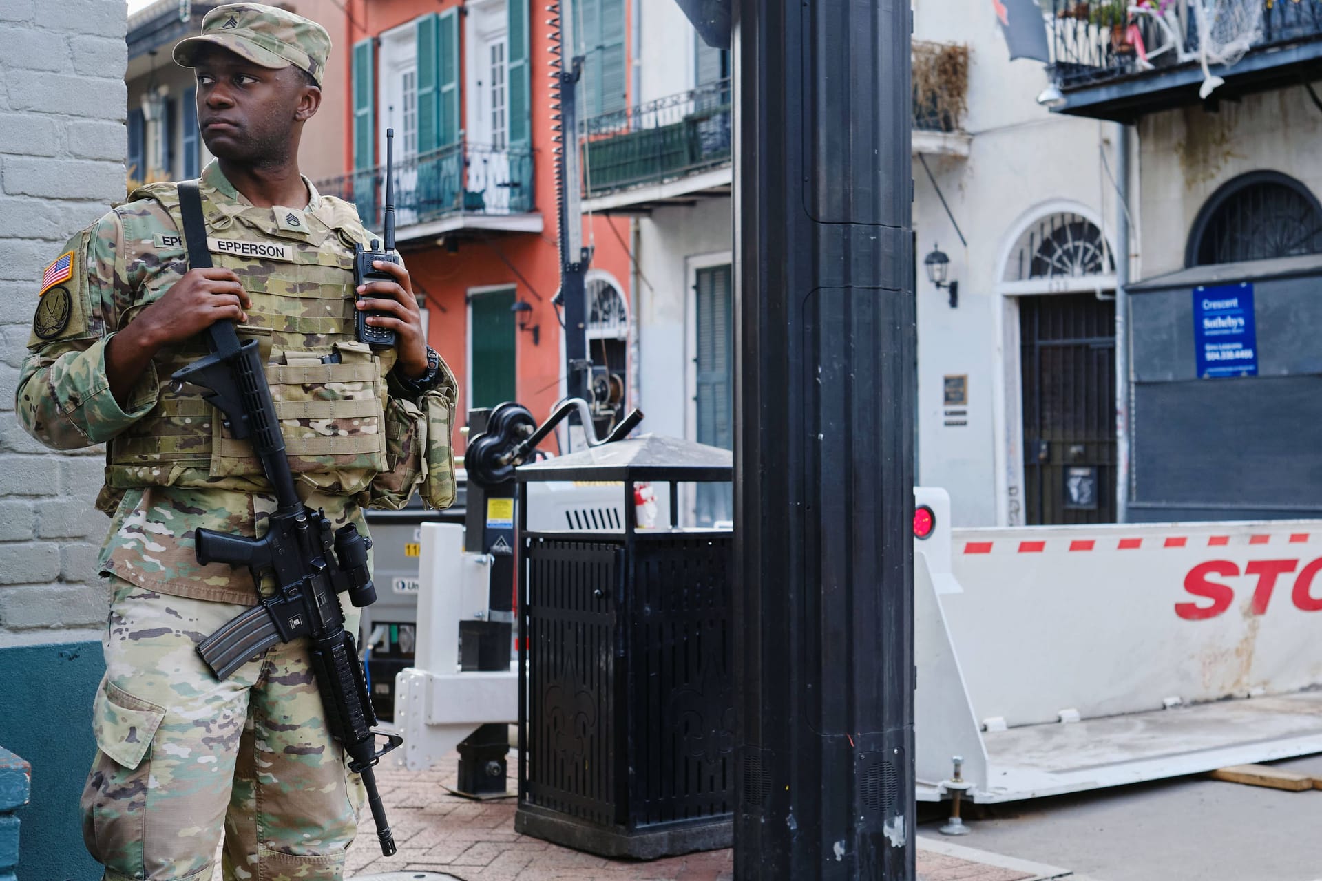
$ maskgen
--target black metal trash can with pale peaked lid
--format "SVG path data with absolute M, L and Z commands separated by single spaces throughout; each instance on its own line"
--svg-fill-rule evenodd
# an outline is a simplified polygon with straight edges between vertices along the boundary
M 602 856 L 730 847 L 734 536 L 677 526 L 678 485 L 730 481 L 730 452 L 645 436 L 516 473 L 516 831 Z M 527 531 L 530 481 L 620 482 L 624 528 Z M 669 526 L 637 526 L 644 482 L 669 485 Z

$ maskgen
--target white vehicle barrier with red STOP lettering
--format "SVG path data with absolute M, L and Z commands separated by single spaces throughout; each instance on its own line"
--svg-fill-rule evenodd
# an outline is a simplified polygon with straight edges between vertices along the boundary
M 1322 752 L 1322 522 L 916 542 L 920 799 L 1006 802 Z

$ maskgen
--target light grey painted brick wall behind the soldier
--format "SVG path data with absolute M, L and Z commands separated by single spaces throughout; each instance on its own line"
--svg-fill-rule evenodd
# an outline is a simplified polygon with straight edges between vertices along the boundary
M 102 448 L 48 450 L 13 392 L 45 265 L 124 198 L 124 0 L 0 0 L 0 647 L 99 638 Z

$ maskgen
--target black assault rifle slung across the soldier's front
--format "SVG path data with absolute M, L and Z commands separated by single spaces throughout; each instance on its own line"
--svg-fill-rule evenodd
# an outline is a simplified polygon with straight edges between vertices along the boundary
M 190 193 L 186 184 L 178 189 L 189 263 L 194 268 L 210 265 L 205 244 L 200 247 L 201 255 L 196 252 L 198 246 L 194 243 L 206 240 L 196 184 Z M 198 643 L 197 651 L 217 678 L 225 679 L 278 642 L 308 638 L 327 730 L 349 754 L 349 770 L 362 777 L 381 852 L 390 856 L 395 852 L 395 840 L 371 769 L 403 738 L 383 733 L 389 742 L 377 752 L 377 732 L 371 730 L 377 715 L 371 709 L 353 634 L 344 629 L 344 610 L 337 596 L 346 590 L 354 606 L 375 601 L 377 590 L 368 569 L 371 543 L 352 523 L 332 532 L 325 512 L 303 505 L 295 491 L 256 339 L 239 342 L 231 321 L 217 321 L 206 330 L 206 337 L 212 354 L 177 370 L 172 379 L 177 384 L 205 388 L 204 398 L 223 413 L 231 433 L 253 442 L 262 472 L 275 490 L 278 507 L 260 539 L 214 530 L 196 531 L 197 561 L 249 567 L 260 598 L 260 605 Z M 260 596 L 263 577 L 274 581 L 268 596 Z

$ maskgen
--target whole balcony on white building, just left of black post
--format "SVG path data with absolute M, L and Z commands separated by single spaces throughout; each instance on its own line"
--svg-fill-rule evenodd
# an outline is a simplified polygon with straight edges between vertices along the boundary
M 584 209 L 646 210 L 730 194 L 728 79 L 587 120 Z

